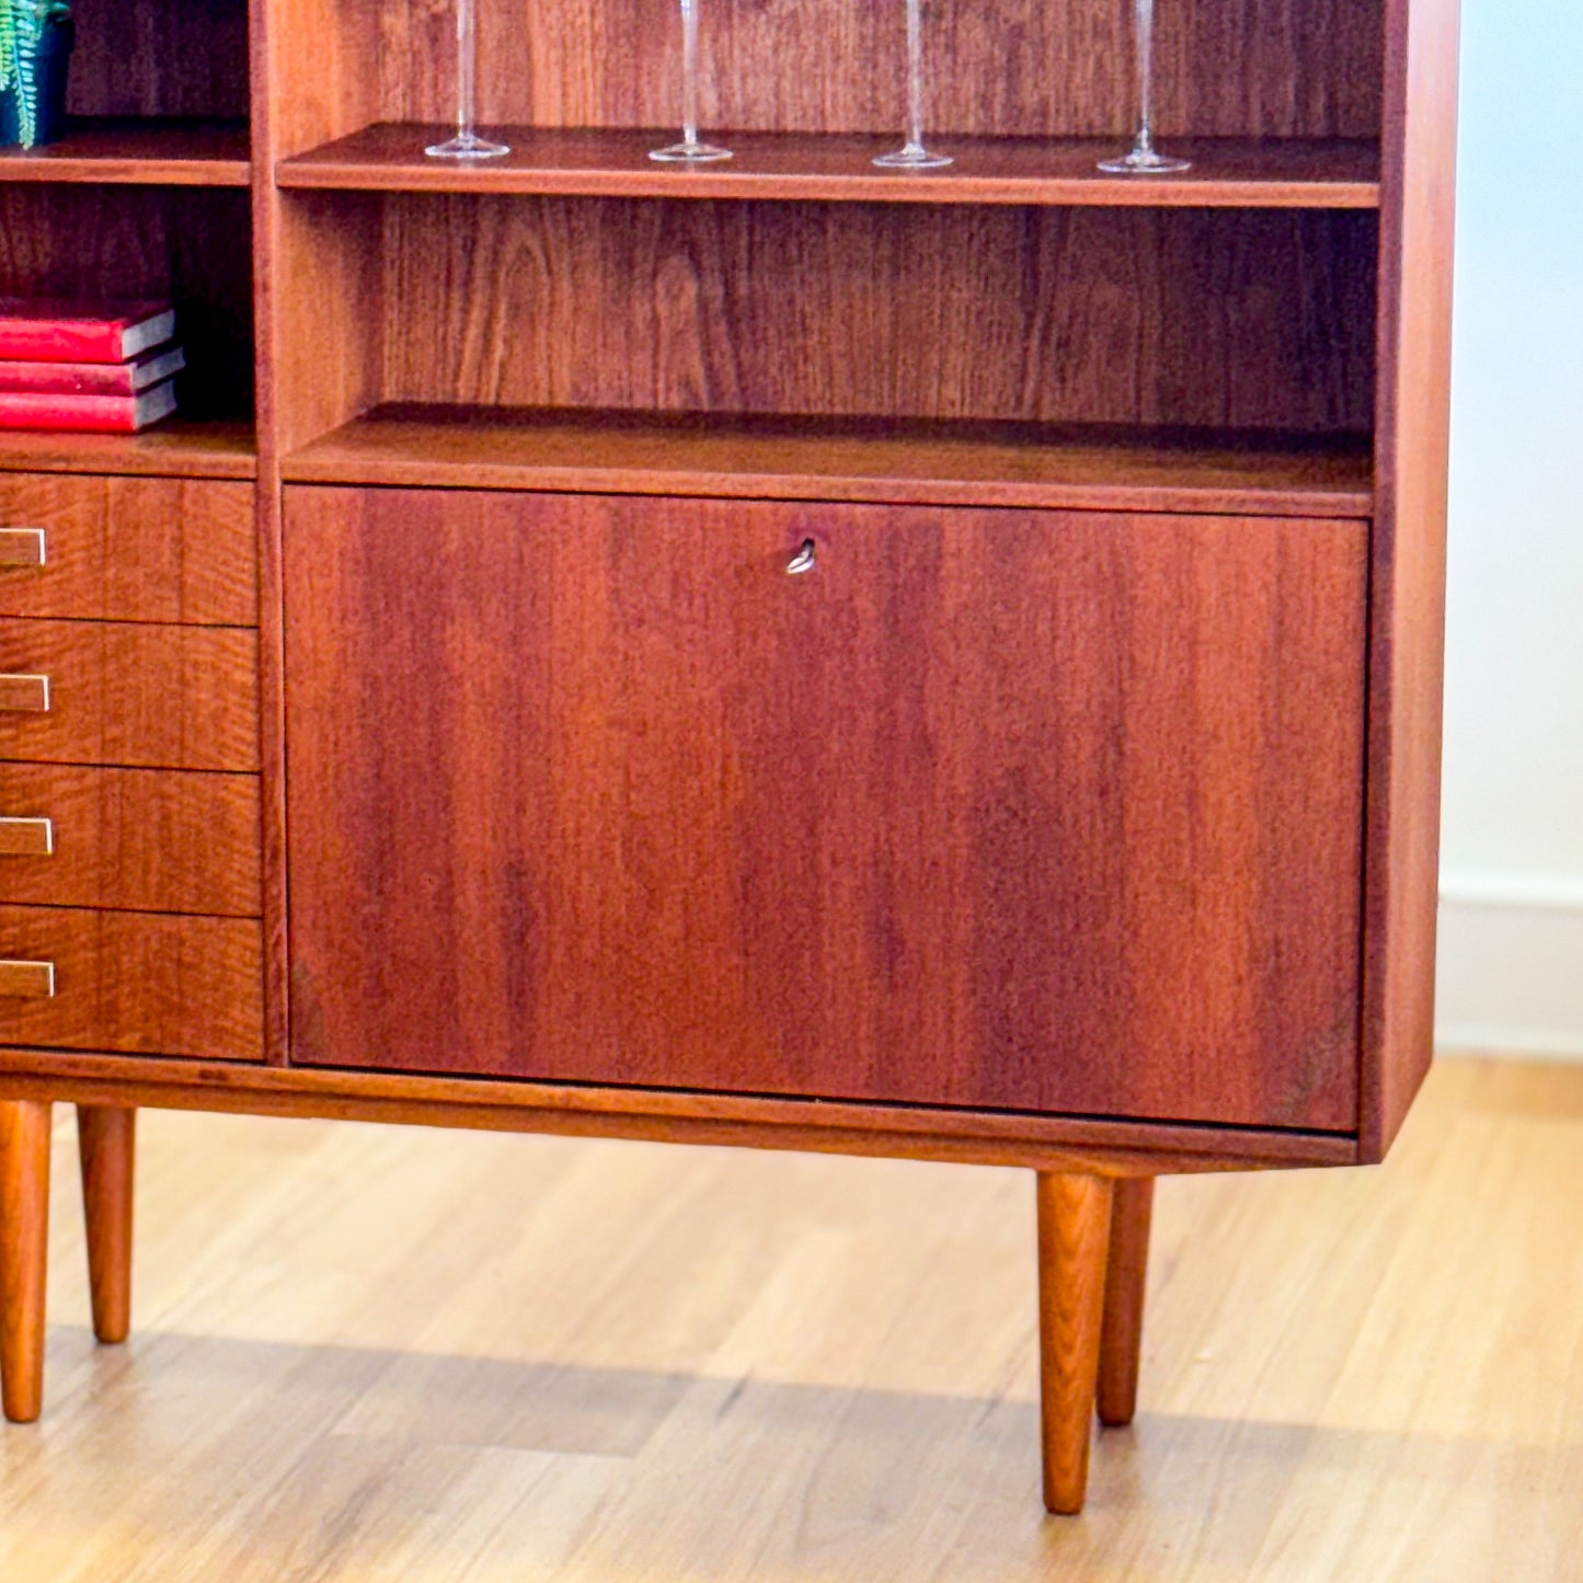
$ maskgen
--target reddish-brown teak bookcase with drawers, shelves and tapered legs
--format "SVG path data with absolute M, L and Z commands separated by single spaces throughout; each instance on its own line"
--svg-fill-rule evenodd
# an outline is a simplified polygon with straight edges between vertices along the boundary
M 1127 0 L 931 5 L 926 174 L 856 0 L 708 6 L 649 161 L 673 11 L 484 0 L 457 169 L 443 8 L 79 0 L 0 157 L 0 291 L 192 361 L 0 435 L 11 1418 L 52 1102 L 106 1341 L 142 1105 L 1013 1164 L 1075 1512 L 1152 1179 L 1401 1126 L 1455 0 L 1162 0 L 1157 180 Z

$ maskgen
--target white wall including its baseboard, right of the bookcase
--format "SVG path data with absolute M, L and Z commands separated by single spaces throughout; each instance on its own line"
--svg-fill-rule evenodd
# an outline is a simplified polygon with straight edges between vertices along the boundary
M 1583 3 L 1463 0 L 1442 1046 L 1583 1054 Z

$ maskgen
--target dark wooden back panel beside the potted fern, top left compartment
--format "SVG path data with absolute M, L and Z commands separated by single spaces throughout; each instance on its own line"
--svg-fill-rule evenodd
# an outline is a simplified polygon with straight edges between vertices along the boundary
M 245 0 L 73 0 L 73 116 L 245 120 Z M 245 155 L 244 155 L 245 158 Z

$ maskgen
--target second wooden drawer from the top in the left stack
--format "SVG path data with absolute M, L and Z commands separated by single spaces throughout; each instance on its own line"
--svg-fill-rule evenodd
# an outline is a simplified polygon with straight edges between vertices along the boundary
M 44 678 L 47 708 L 13 678 Z M 258 769 L 258 636 L 0 617 L 0 758 Z

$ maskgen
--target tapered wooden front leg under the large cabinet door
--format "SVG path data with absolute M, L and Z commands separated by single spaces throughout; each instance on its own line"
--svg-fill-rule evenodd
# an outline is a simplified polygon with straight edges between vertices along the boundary
M 1038 1173 L 1038 1368 L 1045 1505 L 1083 1510 L 1110 1255 L 1111 1183 Z

